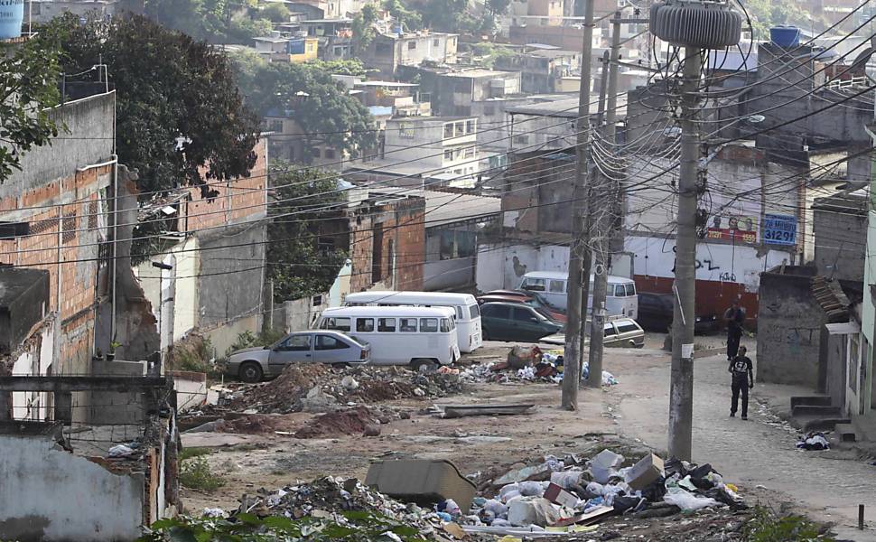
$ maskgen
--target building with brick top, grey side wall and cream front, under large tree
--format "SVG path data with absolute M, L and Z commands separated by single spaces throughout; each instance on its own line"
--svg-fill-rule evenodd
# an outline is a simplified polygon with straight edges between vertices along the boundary
M 163 219 L 168 247 L 135 268 L 160 322 L 161 349 L 197 330 L 224 352 L 261 327 L 267 238 L 267 141 L 256 144 L 247 177 L 214 183 L 214 197 L 186 187 L 143 207 L 138 220 Z M 161 288 L 161 294 L 159 294 Z

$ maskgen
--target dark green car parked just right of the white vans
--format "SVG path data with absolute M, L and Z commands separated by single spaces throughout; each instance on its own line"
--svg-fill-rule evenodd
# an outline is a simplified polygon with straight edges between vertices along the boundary
M 480 306 L 480 322 L 488 341 L 538 341 L 563 329 L 563 325 L 520 303 L 486 303 Z

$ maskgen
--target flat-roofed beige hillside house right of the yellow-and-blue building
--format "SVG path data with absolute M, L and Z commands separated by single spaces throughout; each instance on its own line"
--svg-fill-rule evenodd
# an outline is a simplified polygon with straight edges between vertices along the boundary
M 399 66 L 419 66 L 424 61 L 456 63 L 459 36 L 427 30 L 417 33 L 378 33 L 357 56 L 365 67 L 379 70 L 380 77 L 393 79 Z

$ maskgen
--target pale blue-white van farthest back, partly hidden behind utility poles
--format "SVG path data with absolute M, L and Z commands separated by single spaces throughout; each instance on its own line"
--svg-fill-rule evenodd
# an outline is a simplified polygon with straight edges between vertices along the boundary
M 523 276 L 520 281 L 521 290 L 538 292 L 547 303 L 566 309 L 566 282 L 568 276 L 557 271 L 532 271 Z M 593 308 L 593 276 L 590 276 L 590 295 L 587 298 L 587 311 Z M 638 317 L 638 295 L 636 283 L 622 276 L 609 276 L 609 284 L 605 294 L 605 311 L 609 316 Z

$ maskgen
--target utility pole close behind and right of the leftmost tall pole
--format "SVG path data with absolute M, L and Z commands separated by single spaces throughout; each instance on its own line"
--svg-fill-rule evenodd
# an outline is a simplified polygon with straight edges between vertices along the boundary
M 611 21 L 611 56 L 609 59 L 609 89 L 608 107 L 605 112 L 605 126 L 602 134 L 609 145 L 614 144 L 615 122 L 618 107 L 618 61 L 620 61 L 620 11 L 615 12 Z M 613 149 L 610 147 L 610 152 Z M 595 173 L 600 182 L 593 191 L 599 203 L 592 207 L 592 212 L 599 212 L 595 221 L 596 235 L 593 241 L 593 256 L 596 266 L 593 269 L 593 308 L 592 326 L 590 331 L 590 373 L 587 376 L 587 386 L 601 388 L 602 386 L 602 354 L 605 339 L 605 294 L 609 282 L 609 248 L 614 222 L 614 206 L 620 197 L 620 186 L 613 179 Z

